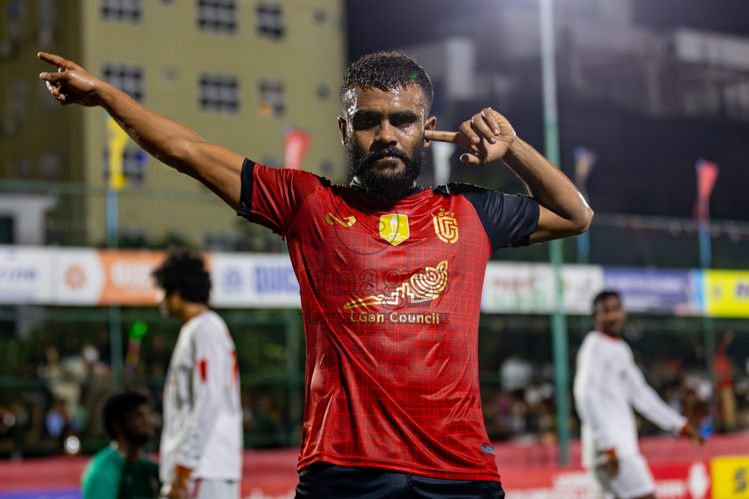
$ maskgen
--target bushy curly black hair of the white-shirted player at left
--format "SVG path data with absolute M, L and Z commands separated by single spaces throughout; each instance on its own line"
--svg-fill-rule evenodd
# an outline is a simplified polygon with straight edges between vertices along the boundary
M 203 259 L 184 249 L 172 248 L 166 260 L 152 273 L 158 287 L 169 295 L 179 291 L 182 298 L 206 304 L 210 297 L 210 274 Z

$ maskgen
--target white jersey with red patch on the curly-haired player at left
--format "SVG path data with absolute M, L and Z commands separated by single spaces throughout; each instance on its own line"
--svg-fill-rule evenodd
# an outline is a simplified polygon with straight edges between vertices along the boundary
M 163 494 L 174 481 L 176 465 L 192 469 L 192 479 L 241 479 L 237 353 L 225 322 L 213 310 L 182 326 L 166 375 L 163 417 Z

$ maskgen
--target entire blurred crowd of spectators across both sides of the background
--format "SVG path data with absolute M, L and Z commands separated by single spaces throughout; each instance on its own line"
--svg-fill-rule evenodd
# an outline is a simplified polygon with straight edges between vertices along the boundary
M 712 376 L 679 355 L 638 349 L 637 342 L 633 343 L 637 364 L 648 382 L 708 437 L 716 432 L 749 430 L 749 358 L 743 356 L 743 349 L 734 348 L 734 338 L 732 331 L 718 336 Z M 127 387 L 154 401 L 157 429 L 173 340 L 168 334 L 151 334 L 136 358 L 131 355 L 125 362 Z M 574 369 L 574 357 L 571 367 Z M 2 376 L 0 456 L 88 453 L 106 445 L 100 415 L 113 392 L 106 333 L 75 350 L 70 345 L 66 350 L 65 343 L 47 345 L 37 361 L 21 371 L 27 376 Z M 252 374 L 243 373 L 241 394 L 246 447 L 293 444 L 286 387 L 252 381 Z M 491 439 L 528 443 L 556 439 L 554 367 L 547 359 L 516 355 L 500 359 L 494 379 L 482 378 L 481 391 Z M 577 435 L 574 407 L 572 411 L 571 430 Z M 652 424 L 640 423 L 641 435 L 658 434 Z

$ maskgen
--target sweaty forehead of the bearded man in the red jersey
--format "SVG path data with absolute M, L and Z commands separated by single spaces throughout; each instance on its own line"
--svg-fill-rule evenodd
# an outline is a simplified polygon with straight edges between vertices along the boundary
M 375 111 L 380 114 L 412 111 L 424 120 L 426 112 L 424 92 L 417 85 L 392 91 L 354 87 L 346 92 L 343 105 L 349 117 L 354 116 L 357 111 Z

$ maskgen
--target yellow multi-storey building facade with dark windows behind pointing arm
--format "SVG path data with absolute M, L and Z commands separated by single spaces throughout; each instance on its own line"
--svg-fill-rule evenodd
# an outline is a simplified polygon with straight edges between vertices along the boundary
M 19 125 L 6 126 L 0 135 L 1 175 L 22 180 L 16 182 L 21 186 L 37 182 L 40 189 L 59 180 L 67 181 L 69 190 L 83 186 L 78 195 L 63 195 L 52 210 L 49 223 L 67 224 L 67 233 L 76 234 L 65 242 L 100 245 L 106 239 L 106 116 L 100 108 L 44 102 L 49 95 L 36 81 L 44 67 L 34 61 L 39 49 L 79 61 L 151 110 L 258 162 L 281 166 L 284 131 L 303 130 L 312 140 L 302 168 L 345 180 L 336 126 L 345 64 L 341 0 L 0 4 L 0 22 L 25 26 L 25 35 L 14 42 L 15 53 L 0 58 L 0 91 L 13 94 L 13 85 L 25 85 L 31 89 L 26 93 L 34 94 L 27 96 L 30 103 Z M 43 36 L 49 35 L 40 34 L 40 25 L 49 8 L 55 9 L 55 19 L 52 41 L 44 46 Z M 6 99 L 4 106 L 12 108 L 12 101 Z M 46 150 L 60 158 L 56 175 L 44 173 L 41 163 L 52 161 L 40 159 Z M 118 201 L 121 233 L 140 235 L 150 244 L 172 234 L 198 248 L 211 236 L 231 239 L 236 233 L 237 218 L 228 206 L 195 180 L 148 159 L 134 143 L 125 150 L 123 168 L 127 186 Z

